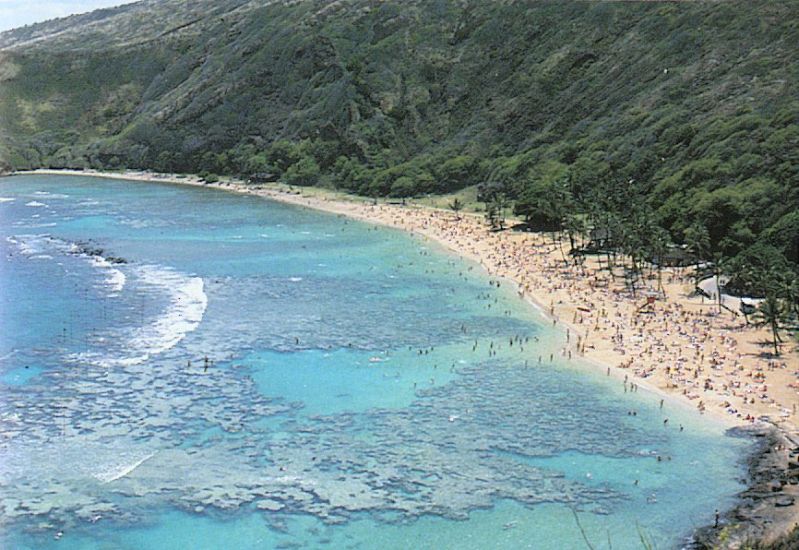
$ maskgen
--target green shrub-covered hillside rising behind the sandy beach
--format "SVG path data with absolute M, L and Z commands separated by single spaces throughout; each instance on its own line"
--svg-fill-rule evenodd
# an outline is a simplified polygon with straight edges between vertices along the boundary
M 0 35 L 0 163 L 394 197 L 483 184 L 489 212 L 601 229 L 633 273 L 684 243 L 731 288 L 785 297 L 797 13 L 795 0 L 150 0 Z

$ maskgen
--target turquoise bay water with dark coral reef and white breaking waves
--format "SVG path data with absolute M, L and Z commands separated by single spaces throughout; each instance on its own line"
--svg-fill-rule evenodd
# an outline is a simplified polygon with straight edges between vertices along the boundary
M 4 548 L 670 548 L 742 489 L 747 441 L 420 238 L 19 176 L 0 249 Z

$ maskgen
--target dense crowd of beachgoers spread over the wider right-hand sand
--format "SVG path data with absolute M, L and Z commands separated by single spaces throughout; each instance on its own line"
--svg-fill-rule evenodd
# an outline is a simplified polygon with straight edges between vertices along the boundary
M 612 364 L 700 411 L 712 406 L 744 421 L 796 412 L 796 366 L 760 351 L 757 330 L 743 317 L 693 295 L 688 269 L 666 269 L 661 284 L 652 276 L 633 292 L 619 268 L 614 273 L 596 257 L 574 261 L 550 235 L 491 231 L 476 216 L 444 210 L 356 204 L 362 219 L 421 233 L 514 281 L 521 298 L 564 325 L 569 359 L 574 353 Z M 776 395 L 783 386 L 789 391 Z

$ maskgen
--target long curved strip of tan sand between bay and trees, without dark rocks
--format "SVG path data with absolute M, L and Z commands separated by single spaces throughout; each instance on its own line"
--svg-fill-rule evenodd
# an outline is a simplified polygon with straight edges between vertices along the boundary
M 747 325 L 743 315 L 719 311 L 715 301 L 694 292 L 690 268 L 664 269 L 660 284 L 645 270 L 645 290 L 633 295 L 621 269 L 602 269 L 597 256 L 576 265 L 550 234 L 490 231 L 483 217 L 409 204 L 379 202 L 277 184 L 237 181 L 206 184 L 195 177 L 149 172 L 38 170 L 27 174 L 73 174 L 169 182 L 262 196 L 395 227 L 437 241 L 479 263 L 495 280 L 512 282 L 520 300 L 535 304 L 562 327 L 566 360 L 587 360 L 619 378 L 625 391 L 645 388 L 712 415 L 730 426 L 764 417 L 793 441 L 797 434 L 799 356 L 785 338 L 782 354 L 771 355 L 771 334 Z M 513 222 L 509 220 L 509 225 Z M 564 254 L 565 252 L 565 254 Z M 662 286 L 662 288 L 659 288 Z M 647 296 L 654 296 L 653 302 Z M 775 518 L 770 535 L 797 520 L 794 506 Z

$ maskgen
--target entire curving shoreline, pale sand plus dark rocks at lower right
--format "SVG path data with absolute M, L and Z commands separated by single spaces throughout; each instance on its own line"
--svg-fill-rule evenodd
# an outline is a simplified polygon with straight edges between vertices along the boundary
M 729 318 L 727 312 L 716 313 L 714 304 L 692 296 L 685 270 L 664 270 L 668 280 L 662 298 L 647 307 L 651 313 L 642 313 L 643 296 L 625 292 L 614 276 L 602 272 L 597 258 L 589 257 L 585 268 L 577 268 L 561 258 L 562 252 L 548 236 L 512 229 L 491 232 L 477 214 L 456 217 L 447 210 L 372 203 L 317 188 L 248 185 L 227 179 L 208 184 L 196 176 L 143 171 L 34 170 L 10 175 L 78 175 L 213 188 L 344 215 L 431 239 L 479 264 L 492 280 L 513 284 L 520 299 L 553 325 L 561 325 L 561 333 L 572 336 L 563 342 L 564 358 L 574 355 L 577 362 L 607 369 L 608 376 L 624 380 L 625 391 L 628 384 L 635 384 L 669 404 L 707 412 L 708 420 L 761 442 L 748 460 L 749 488 L 739 495 L 739 504 L 724 516 L 718 529 L 697 531 L 694 539 L 700 547 L 710 541 L 719 544 L 726 540 L 726 545 L 753 537 L 773 540 L 799 521 L 799 506 L 793 505 L 799 488 L 792 483 L 799 483 L 799 475 L 788 475 L 799 473 L 799 392 L 792 387 L 797 383 L 799 361 L 788 349 L 794 346 L 784 346 L 788 357 L 779 361 L 764 355 L 760 340 L 765 331 L 744 327 L 742 320 Z M 653 280 L 646 283 L 654 290 Z M 772 388 L 771 393 L 767 388 Z M 767 497 L 753 499 L 755 495 Z M 785 504 L 788 498 L 790 505 Z M 781 504 L 776 504 L 778 501 Z

